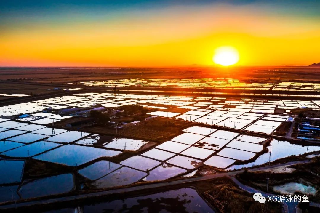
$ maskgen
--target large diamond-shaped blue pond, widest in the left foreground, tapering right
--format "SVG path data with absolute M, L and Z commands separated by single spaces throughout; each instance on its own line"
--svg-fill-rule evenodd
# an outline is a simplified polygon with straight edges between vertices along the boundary
M 41 161 L 76 166 L 93 161 L 100 157 L 112 157 L 120 153 L 121 152 L 119 151 L 68 144 L 37 155 L 33 158 Z

